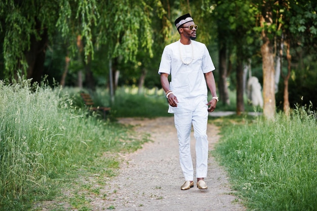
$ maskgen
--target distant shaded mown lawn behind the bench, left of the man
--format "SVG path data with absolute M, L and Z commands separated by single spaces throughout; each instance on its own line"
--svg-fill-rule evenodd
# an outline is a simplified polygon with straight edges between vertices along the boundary
M 81 90 L 78 88 L 66 88 L 66 92 L 71 97 L 75 106 L 85 109 L 84 102 L 80 96 L 82 91 L 90 93 L 95 105 L 109 106 L 111 111 L 109 117 L 115 120 L 120 117 L 147 117 L 153 118 L 158 116 L 171 116 L 167 113 L 168 103 L 165 93 L 162 89 L 155 88 L 144 89 L 138 93 L 137 87 L 119 87 L 115 91 L 114 102 L 112 103 L 109 96 L 109 90 L 97 88 L 95 92 Z M 100 113 L 96 113 L 100 115 Z

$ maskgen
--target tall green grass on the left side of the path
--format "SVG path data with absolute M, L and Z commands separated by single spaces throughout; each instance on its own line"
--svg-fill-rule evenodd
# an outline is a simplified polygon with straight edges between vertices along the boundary
M 48 180 L 70 177 L 105 151 L 133 150 L 146 141 L 86 115 L 59 89 L 0 81 L 0 96 L 0 210 L 27 209 L 34 195 L 50 192 Z

